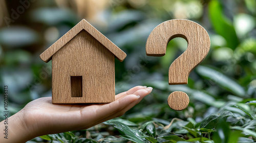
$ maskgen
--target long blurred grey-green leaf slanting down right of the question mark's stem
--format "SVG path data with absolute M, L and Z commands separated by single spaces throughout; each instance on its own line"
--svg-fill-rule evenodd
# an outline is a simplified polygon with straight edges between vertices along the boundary
M 236 81 L 230 79 L 219 71 L 206 66 L 198 66 L 196 68 L 199 75 L 210 79 L 211 81 L 217 83 L 222 88 L 236 94 L 237 96 L 244 97 L 245 90 Z

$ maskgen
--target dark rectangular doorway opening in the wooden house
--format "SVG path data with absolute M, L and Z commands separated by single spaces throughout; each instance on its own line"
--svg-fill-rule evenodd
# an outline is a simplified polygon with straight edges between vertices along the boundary
M 71 97 L 82 97 L 82 76 L 70 76 Z

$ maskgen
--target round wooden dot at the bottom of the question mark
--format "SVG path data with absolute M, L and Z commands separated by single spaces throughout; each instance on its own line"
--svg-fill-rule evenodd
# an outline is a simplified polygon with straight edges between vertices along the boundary
M 189 98 L 185 92 L 174 91 L 170 93 L 167 102 L 170 108 L 180 111 L 187 108 Z

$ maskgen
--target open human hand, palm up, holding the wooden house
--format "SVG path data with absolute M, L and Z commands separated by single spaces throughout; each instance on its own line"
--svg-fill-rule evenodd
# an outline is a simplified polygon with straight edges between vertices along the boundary
M 36 136 L 88 129 L 123 115 L 151 91 L 152 87 L 136 86 L 116 95 L 109 104 L 52 104 L 51 97 L 36 99 L 9 117 L 12 124 L 5 142 L 26 142 Z

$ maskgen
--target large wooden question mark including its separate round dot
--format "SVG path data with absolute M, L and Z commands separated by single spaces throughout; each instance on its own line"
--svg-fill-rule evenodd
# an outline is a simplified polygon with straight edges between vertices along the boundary
M 160 23 L 151 32 L 146 41 L 146 55 L 164 56 L 168 42 L 176 37 L 187 41 L 187 50 L 170 65 L 169 85 L 187 84 L 190 72 L 210 50 L 210 38 L 202 26 L 190 20 L 174 19 Z M 170 93 L 167 101 L 170 108 L 183 110 L 188 106 L 189 98 L 185 92 L 175 91 Z

